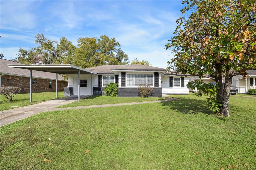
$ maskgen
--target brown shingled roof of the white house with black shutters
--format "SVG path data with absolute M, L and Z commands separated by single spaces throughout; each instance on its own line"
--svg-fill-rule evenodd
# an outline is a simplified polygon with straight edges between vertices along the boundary
M 97 67 L 86 68 L 86 70 L 90 70 L 93 72 L 97 72 L 98 74 L 113 74 L 112 71 L 166 71 L 164 68 L 146 66 L 142 64 L 134 64 L 134 65 L 102 65 Z

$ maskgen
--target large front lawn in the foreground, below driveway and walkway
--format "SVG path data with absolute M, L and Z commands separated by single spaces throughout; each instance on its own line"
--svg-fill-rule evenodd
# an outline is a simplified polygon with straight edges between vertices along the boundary
M 205 96 L 171 96 L 181 100 L 45 112 L 3 126 L 0 167 L 256 169 L 256 99 L 231 96 L 225 118 Z

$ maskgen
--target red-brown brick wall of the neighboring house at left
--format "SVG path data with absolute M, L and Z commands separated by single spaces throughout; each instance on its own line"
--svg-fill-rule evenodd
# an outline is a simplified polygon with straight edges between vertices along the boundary
M 1 85 L 17 86 L 22 88 L 20 93 L 29 93 L 29 77 L 1 76 Z M 68 87 L 67 81 L 58 81 L 58 91 L 63 91 L 63 87 Z M 56 91 L 56 80 L 52 80 L 52 88 L 49 88 L 49 80 L 37 79 L 36 84 L 32 84 L 32 93 Z

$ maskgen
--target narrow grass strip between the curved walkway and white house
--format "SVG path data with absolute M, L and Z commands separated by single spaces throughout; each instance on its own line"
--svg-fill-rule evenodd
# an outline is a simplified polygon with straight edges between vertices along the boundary
M 152 100 L 163 100 L 165 98 L 153 98 L 153 97 L 148 97 L 148 98 L 120 98 L 120 97 L 111 97 L 111 96 L 92 96 L 81 99 L 80 102 L 73 102 L 69 103 L 63 106 L 59 106 L 58 108 L 61 107 L 76 107 L 76 106 L 91 106 L 91 105 L 100 105 L 100 104 L 114 104 L 114 103 L 130 103 L 130 102 L 144 102 L 144 101 L 152 101 Z

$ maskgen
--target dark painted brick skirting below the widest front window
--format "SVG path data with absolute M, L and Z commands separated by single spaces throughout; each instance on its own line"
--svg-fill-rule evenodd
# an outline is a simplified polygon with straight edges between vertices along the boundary
M 118 97 L 140 97 L 139 90 L 136 87 L 118 88 Z M 162 87 L 154 88 L 150 97 L 162 97 Z

